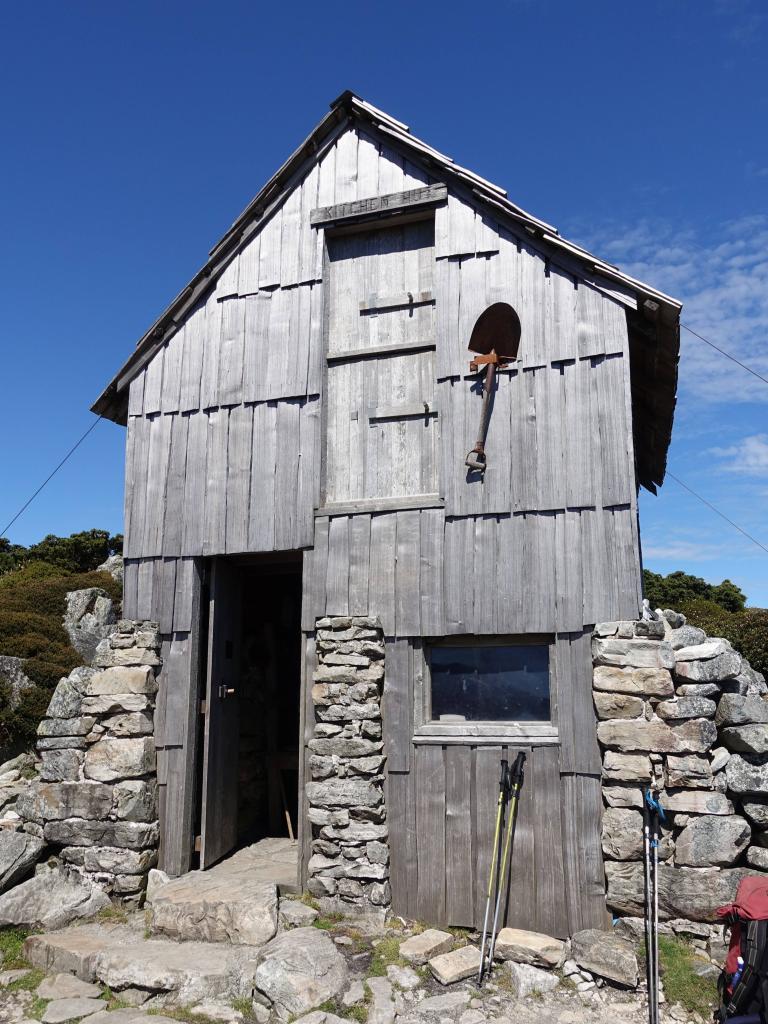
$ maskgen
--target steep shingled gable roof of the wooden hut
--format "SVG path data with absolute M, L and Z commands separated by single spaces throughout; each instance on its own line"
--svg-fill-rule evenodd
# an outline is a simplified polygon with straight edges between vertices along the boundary
M 458 185 L 500 222 L 523 231 L 543 252 L 627 306 L 632 376 L 633 424 L 638 482 L 655 493 L 664 481 L 677 391 L 681 303 L 624 273 L 586 249 L 563 239 L 557 228 L 513 203 L 504 188 L 455 163 L 411 133 L 408 125 L 350 91 L 330 112 L 248 204 L 209 253 L 205 265 L 176 296 L 92 406 L 118 423 L 127 420 L 128 386 L 187 313 L 213 287 L 231 256 L 256 233 L 338 136 L 359 124 L 386 138 L 394 148 L 432 175 Z

